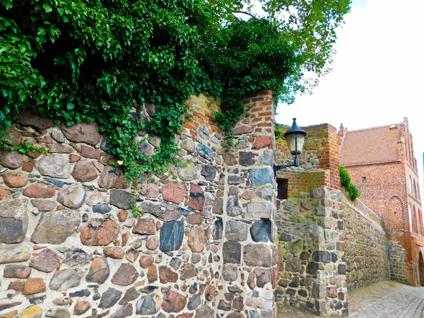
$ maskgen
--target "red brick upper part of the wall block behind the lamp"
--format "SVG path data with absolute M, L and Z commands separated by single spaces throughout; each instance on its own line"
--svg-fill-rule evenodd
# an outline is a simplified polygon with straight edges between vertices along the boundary
M 281 130 L 287 131 L 288 128 L 281 127 Z M 310 189 L 322 185 L 340 189 L 336 128 L 329 124 L 302 128 L 310 134 L 310 137 L 305 140 L 304 150 L 300 155 L 300 167 L 288 167 L 278 172 L 278 177 L 293 179 L 293 182 L 288 183 L 288 197 L 296 198 L 301 192 L 309 192 Z M 277 164 L 293 162 L 285 140 L 276 140 L 276 152 Z

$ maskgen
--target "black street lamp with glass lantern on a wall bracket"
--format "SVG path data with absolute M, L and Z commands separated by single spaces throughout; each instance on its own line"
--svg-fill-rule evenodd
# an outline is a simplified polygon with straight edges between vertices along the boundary
M 277 171 L 283 169 L 284 167 L 299 167 L 299 156 L 302 153 L 303 144 L 305 143 L 305 139 L 307 139 L 310 135 L 304 131 L 298 124 L 296 124 L 296 119 L 293 118 L 293 125 L 285 131 L 283 136 L 281 137 L 288 144 L 288 150 L 295 158 L 293 163 L 288 163 L 287 165 L 274 165 L 274 176 L 277 176 Z

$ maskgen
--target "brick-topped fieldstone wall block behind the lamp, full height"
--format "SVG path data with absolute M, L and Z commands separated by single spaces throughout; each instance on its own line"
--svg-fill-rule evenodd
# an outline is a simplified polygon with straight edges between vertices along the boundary
M 343 213 L 338 182 L 336 129 L 327 124 L 303 127 L 300 167 L 280 170 L 288 179 L 288 199 L 277 200 L 278 300 L 322 316 L 348 315 Z M 290 155 L 276 141 L 277 162 Z M 283 314 L 283 313 L 281 313 Z

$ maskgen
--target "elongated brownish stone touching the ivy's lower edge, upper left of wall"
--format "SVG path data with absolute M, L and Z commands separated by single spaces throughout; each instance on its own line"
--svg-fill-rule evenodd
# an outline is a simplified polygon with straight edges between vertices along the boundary
M 91 146 L 97 145 L 102 137 L 98 125 L 93 122 L 78 122 L 72 126 L 62 124 L 61 131 L 70 141 L 88 143 Z

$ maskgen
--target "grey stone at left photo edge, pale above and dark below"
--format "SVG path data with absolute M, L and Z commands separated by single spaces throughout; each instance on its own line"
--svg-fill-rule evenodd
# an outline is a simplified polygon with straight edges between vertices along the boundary
M 25 240 L 28 228 L 26 200 L 4 200 L 0 202 L 0 242 L 20 243 Z

